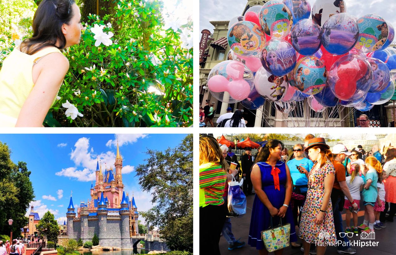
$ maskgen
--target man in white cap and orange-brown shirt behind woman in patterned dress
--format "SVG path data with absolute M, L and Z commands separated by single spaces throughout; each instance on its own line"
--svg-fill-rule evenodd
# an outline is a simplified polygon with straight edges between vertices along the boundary
M 346 198 L 348 198 L 352 204 L 353 210 L 358 210 L 358 205 L 354 202 L 352 196 L 350 195 L 348 185 L 346 185 L 345 167 L 343 164 L 341 164 L 345 157 L 351 155 L 352 153 L 348 152 L 348 149 L 346 149 L 345 145 L 343 144 L 334 145 L 334 147 L 331 149 L 331 153 L 333 153 L 332 163 L 335 169 L 334 184 L 330 196 L 331 204 L 333 205 L 334 227 L 337 234 L 337 240 L 342 241 L 343 244 L 346 244 L 345 246 L 338 246 L 337 252 L 340 254 L 354 254 L 356 253 L 356 250 L 350 248 L 349 244 L 347 243 L 348 239 L 346 236 L 341 237 L 339 234 L 340 232 L 344 232 L 343 219 L 341 217 L 341 211 L 344 208 L 343 202 L 345 202 L 344 196 L 346 196 Z

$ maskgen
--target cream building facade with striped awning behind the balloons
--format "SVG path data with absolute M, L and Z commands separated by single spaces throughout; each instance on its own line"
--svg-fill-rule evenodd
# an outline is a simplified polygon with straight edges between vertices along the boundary
M 255 1 L 247 0 L 247 4 L 241 15 L 252 6 L 262 6 L 267 0 Z M 257 110 L 250 110 L 244 108 L 240 103 L 227 104 L 214 98 L 208 91 L 207 79 L 211 69 L 227 60 L 230 46 L 227 42 L 227 32 L 229 21 L 210 21 L 213 25 L 213 34 L 208 40 L 205 40 L 207 47 L 204 50 L 204 45 L 200 43 L 200 105 L 204 106 L 206 99 L 210 102 L 215 102 L 216 114 L 213 122 L 217 118 L 227 112 L 227 108 L 231 107 L 232 111 L 236 109 L 244 110 L 244 119 L 247 121 L 247 127 L 355 127 L 359 125 L 356 119 L 363 112 L 354 108 L 347 108 L 345 106 L 337 105 L 332 108 L 327 108 L 321 113 L 316 113 L 310 109 L 308 100 L 304 99 L 301 102 L 296 102 L 296 108 L 291 113 L 280 112 L 274 102 L 265 100 L 263 106 Z M 209 30 L 202 28 L 202 37 L 206 37 Z M 202 42 L 202 40 L 201 40 Z M 391 47 L 395 46 L 394 44 Z M 202 49 L 202 50 L 201 50 Z M 381 127 L 387 127 L 388 123 L 394 119 L 393 104 L 386 104 L 374 106 L 369 112 L 364 112 L 371 120 L 379 121 Z M 385 118 L 384 118 L 385 117 Z M 373 124 L 374 125 L 374 124 Z

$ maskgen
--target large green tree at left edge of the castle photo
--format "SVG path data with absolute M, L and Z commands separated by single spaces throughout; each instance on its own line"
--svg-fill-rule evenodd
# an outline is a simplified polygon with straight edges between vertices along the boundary
M 17 237 L 29 222 L 25 214 L 34 192 L 26 163 L 15 164 L 10 155 L 8 145 L 0 142 L 0 234 L 8 235 L 12 230 Z M 13 219 L 12 229 L 8 219 Z

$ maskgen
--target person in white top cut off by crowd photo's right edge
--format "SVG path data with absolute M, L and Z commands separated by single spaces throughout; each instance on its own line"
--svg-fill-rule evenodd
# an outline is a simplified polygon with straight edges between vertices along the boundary
M 393 222 L 393 217 L 396 214 L 396 148 L 386 150 L 385 155 L 386 161 L 383 170 L 386 172 L 387 179 L 385 182 L 385 210 L 380 213 L 382 223 L 385 223 L 385 220 Z M 386 217 L 388 209 L 390 209 L 389 216 Z

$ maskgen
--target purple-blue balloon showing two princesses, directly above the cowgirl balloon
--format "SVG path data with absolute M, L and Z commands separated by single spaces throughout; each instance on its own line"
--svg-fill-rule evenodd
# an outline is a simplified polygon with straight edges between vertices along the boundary
M 295 49 L 282 39 L 269 40 L 261 51 L 261 64 L 275 76 L 284 76 L 291 72 L 296 61 Z

